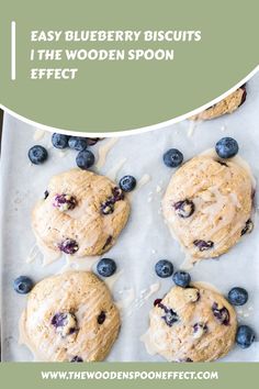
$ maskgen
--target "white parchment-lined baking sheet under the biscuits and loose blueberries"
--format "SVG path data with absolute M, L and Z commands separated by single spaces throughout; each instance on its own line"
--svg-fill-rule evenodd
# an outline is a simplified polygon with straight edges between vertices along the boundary
M 119 170 L 117 179 L 131 174 L 143 182 L 131 194 L 132 213 L 127 226 L 115 246 L 105 254 L 116 260 L 117 279 L 114 279 L 112 291 L 114 299 L 123 305 L 122 330 L 108 360 L 164 360 L 159 356 L 148 355 L 139 341 L 148 327 L 148 312 L 154 300 L 162 297 L 172 286 L 171 279 L 159 279 L 155 275 L 156 262 L 168 258 L 178 269 L 184 259 L 160 212 L 160 201 L 173 173 L 161 160 L 164 152 L 177 147 L 187 160 L 213 147 L 221 137 L 229 135 L 238 141 L 239 155 L 250 164 L 258 180 L 259 74 L 248 82 L 247 92 L 246 103 L 232 115 L 198 123 L 194 127 L 189 121 L 183 121 L 156 131 L 121 137 L 108 153 L 105 164 L 93 168 L 109 176 Z M 18 322 L 26 297 L 13 291 L 13 279 L 19 275 L 27 275 L 38 281 L 60 271 L 66 264 L 65 258 L 61 258 L 43 267 L 38 254 L 34 262 L 26 263 L 35 245 L 31 229 L 31 211 L 35 201 L 43 196 L 53 175 L 75 167 L 76 152 L 55 149 L 50 145 L 50 134 L 42 135 L 36 127 L 4 114 L 1 159 L 3 360 L 33 360 L 29 349 L 19 345 Z M 109 142 L 111 140 L 104 140 L 92 147 L 97 157 L 99 147 Z M 29 163 L 27 149 L 34 144 L 48 148 L 49 158 L 42 166 Z M 256 223 L 254 232 L 218 260 L 203 260 L 190 270 L 193 281 L 211 282 L 225 294 L 234 286 L 245 287 L 250 297 L 246 305 L 237 309 L 238 320 L 255 330 L 259 323 L 258 229 Z M 78 265 L 70 266 L 77 268 Z M 246 351 L 235 346 L 222 360 L 259 360 L 259 343 L 254 343 Z

